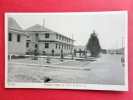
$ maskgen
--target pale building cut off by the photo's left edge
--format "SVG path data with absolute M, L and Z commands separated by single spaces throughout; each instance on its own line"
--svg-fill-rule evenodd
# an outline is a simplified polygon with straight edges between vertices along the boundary
M 16 21 L 8 18 L 8 54 L 25 54 L 26 34 Z

